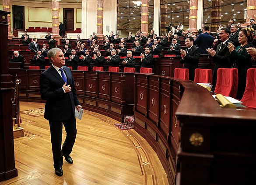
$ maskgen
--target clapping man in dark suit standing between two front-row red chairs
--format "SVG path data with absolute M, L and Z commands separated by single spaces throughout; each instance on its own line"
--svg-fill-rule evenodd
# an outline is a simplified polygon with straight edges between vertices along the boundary
M 198 68 L 200 58 L 200 49 L 193 45 L 194 39 L 188 37 L 185 40 L 186 50 L 181 49 L 182 58 L 180 63 L 184 64 L 184 68 L 189 69 L 189 80 L 194 81 L 195 69 Z

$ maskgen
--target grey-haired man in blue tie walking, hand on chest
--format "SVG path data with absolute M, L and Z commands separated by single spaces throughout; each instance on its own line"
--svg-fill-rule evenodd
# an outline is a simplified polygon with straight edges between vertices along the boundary
M 40 76 L 40 94 L 46 100 L 44 117 L 50 125 L 55 174 L 62 176 L 63 156 L 68 163 L 73 163 L 70 153 L 77 134 L 75 109 L 79 111 L 82 106 L 77 99 L 72 72 L 64 66 L 65 58 L 61 49 L 51 49 L 48 58 L 52 65 Z M 67 137 L 61 149 L 62 125 Z

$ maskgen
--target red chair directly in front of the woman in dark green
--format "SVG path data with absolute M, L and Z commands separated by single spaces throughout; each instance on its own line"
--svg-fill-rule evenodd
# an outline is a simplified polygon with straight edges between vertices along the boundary
M 236 97 L 238 88 L 238 70 L 236 68 L 219 68 L 214 93 Z

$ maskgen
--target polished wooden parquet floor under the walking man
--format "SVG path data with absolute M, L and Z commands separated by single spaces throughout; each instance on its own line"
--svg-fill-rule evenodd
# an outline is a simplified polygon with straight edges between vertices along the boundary
M 107 116 L 85 110 L 77 120 L 77 138 L 63 161 L 63 176 L 55 175 L 49 123 L 44 104 L 21 102 L 25 136 L 14 140 L 18 177 L 1 185 L 168 185 L 157 154 L 134 130 L 121 131 Z M 63 127 L 63 140 L 65 139 Z

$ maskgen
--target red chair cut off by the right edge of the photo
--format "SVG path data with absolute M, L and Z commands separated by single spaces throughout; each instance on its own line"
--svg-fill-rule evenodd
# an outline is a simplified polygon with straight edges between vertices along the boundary
M 243 105 L 256 109 L 256 68 L 247 70 L 245 93 L 241 101 Z

